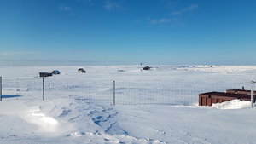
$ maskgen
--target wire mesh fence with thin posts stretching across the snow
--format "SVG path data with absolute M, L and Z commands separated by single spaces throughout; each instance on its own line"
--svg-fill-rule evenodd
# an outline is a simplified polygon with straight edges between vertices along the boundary
M 101 104 L 195 105 L 198 95 L 226 89 L 251 89 L 250 83 L 178 84 L 172 82 L 86 82 L 72 78 L 1 78 L 0 95 L 8 100 L 53 100 L 82 98 Z M 43 93 L 43 94 L 42 94 Z M 43 96 L 43 98 L 42 98 Z M 253 101 L 253 95 L 252 95 Z M 252 104 L 253 105 L 253 104 Z

